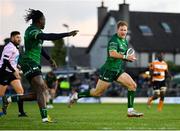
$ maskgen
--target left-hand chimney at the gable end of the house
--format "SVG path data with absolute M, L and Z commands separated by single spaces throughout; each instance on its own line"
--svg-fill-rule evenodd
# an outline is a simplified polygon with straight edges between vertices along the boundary
M 98 29 L 101 27 L 104 18 L 107 15 L 107 7 L 104 6 L 104 2 L 101 2 L 101 7 L 98 7 Z

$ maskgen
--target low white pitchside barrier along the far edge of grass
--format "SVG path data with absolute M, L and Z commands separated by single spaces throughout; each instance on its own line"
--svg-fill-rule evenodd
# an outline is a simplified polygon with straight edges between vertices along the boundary
M 147 103 L 147 97 L 136 97 L 135 103 Z M 68 96 L 58 96 L 54 99 L 54 103 L 67 103 L 69 101 Z M 158 103 L 159 99 L 153 103 Z M 100 98 L 81 98 L 78 103 L 127 103 L 126 97 L 100 97 Z M 167 104 L 180 104 L 180 97 L 165 97 L 164 103 Z

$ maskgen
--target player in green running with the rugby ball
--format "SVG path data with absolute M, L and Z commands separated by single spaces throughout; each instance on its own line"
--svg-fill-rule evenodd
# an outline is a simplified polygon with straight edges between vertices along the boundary
M 92 88 L 86 92 L 77 93 L 73 91 L 70 96 L 69 107 L 75 103 L 79 98 L 101 96 L 104 91 L 109 88 L 113 81 L 121 83 L 128 89 L 128 117 L 140 117 L 143 113 L 137 112 L 133 108 L 134 95 L 136 91 L 136 83 L 129 74 L 124 71 L 125 61 L 133 62 L 136 56 L 127 55 L 128 43 L 126 41 L 126 34 L 128 31 L 128 24 L 125 21 L 117 23 L 117 33 L 114 34 L 108 43 L 107 60 L 100 68 L 100 75 L 96 88 Z

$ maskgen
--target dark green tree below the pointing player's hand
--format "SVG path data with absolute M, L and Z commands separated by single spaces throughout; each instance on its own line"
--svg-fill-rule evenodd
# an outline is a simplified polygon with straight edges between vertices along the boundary
M 57 66 L 64 66 L 66 57 L 64 40 L 60 39 L 52 42 L 54 43 L 54 47 L 51 50 L 51 57 L 56 61 Z

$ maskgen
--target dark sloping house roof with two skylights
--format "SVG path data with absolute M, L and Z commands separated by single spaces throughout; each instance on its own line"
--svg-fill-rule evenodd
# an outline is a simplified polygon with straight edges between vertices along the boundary
M 180 52 L 180 14 L 178 13 L 160 13 L 160 12 L 133 12 L 130 11 L 130 44 L 138 52 Z M 103 30 L 109 17 L 112 16 L 118 21 L 118 11 L 107 13 L 101 27 L 98 29 L 95 37 L 91 41 L 86 52 L 89 53 L 101 31 Z M 161 25 L 165 22 L 172 30 L 166 33 Z M 139 25 L 147 25 L 152 30 L 152 36 L 142 35 Z

